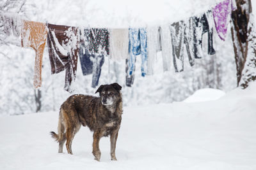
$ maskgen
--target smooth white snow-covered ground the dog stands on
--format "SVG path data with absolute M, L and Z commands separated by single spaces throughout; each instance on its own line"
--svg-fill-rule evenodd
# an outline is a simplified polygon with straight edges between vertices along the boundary
M 125 107 L 118 161 L 110 160 L 109 138 L 100 141 L 101 162 L 93 160 L 84 127 L 74 155 L 57 153 L 49 132 L 58 112 L 1 117 L 0 169 L 256 169 L 255 94 L 251 83 L 215 101 Z

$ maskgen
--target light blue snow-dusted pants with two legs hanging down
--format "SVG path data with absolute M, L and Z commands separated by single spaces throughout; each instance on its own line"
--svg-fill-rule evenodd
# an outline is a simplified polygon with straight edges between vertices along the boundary
M 129 28 L 128 72 L 135 71 L 136 55 L 141 55 L 141 76 L 147 73 L 147 31 L 145 28 Z

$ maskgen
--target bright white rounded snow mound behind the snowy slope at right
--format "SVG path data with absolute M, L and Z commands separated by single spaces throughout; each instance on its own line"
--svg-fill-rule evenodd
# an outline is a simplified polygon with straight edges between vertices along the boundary
M 200 89 L 197 90 L 194 94 L 189 96 L 184 100 L 186 103 L 194 103 L 194 102 L 204 102 L 204 101 L 214 101 L 220 99 L 220 97 L 224 96 L 225 92 L 218 89 Z

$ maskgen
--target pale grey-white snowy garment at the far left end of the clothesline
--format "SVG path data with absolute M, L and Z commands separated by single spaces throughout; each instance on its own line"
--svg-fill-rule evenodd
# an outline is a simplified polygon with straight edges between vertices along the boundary
M 21 20 L 16 13 L 0 13 L 0 32 L 6 36 L 20 36 Z

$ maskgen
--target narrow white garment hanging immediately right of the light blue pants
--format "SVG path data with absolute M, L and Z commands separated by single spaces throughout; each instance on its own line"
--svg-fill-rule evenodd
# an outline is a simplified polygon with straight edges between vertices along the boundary
M 154 73 L 154 63 L 156 62 L 157 51 L 161 50 L 160 27 L 147 27 L 147 74 Z

